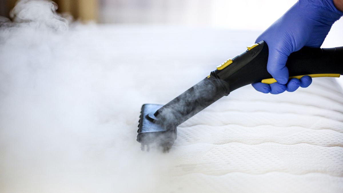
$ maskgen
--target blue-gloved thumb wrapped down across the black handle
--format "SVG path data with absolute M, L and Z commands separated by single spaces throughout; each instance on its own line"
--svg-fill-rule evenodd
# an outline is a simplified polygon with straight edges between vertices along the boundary
M 288 55 L 277 51 L 275 48 L 269 50 L 267 70 L 280 84 L 288 82 L 288 69 L 286 67 Z

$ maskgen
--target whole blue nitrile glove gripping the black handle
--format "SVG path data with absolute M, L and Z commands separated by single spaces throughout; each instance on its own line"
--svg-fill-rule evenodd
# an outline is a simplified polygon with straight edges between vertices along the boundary
M 328 35 L 332 24 L 343 12 L 337 10 L 333 0 L 299 0 L 281 18 L 274 22 L 257 39 L 264 40 L 269 47 L 268 72 L 277 81 L 273 84 L 254 83 L 252 86 L 263 93 L 279 94 L 306 88 L 312 78 L 288 80 L 285 67 L 287 57 L 304 46 L 319 48 Z

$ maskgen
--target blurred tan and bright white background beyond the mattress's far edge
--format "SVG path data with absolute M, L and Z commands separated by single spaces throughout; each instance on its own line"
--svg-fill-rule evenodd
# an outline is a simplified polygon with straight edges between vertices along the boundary
M 1 0 L 0 14 L 9 16 L 16 0 Z M 296 0 L 55 0 L 58 12 L 82 22 L 168 24 L 264 30 Z M 343 21 L 339 26 L 343 30 Z M 336 26 L 334 26 L 336 27 Z

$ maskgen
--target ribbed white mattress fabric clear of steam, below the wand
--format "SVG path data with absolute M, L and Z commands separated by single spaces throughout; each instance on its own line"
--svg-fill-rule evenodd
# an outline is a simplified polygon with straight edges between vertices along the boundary
M 232 92 L 179 126 L 172 170 L 186 192 L 342 192 L 343 95 L 334 80 L 252 92 Z

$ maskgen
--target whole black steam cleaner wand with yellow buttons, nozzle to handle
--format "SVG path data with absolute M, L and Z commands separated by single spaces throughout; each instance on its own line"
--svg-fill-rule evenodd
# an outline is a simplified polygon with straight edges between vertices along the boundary
M 247 48 L 167 104 L 143 104 L 137 135 L 141 149 L 149 151 L 154 144 L 168 151 L 176 139 L 176 127 L 207 106 L 247 84 L 276 82 L 267 71 L 267 43 L 261 41 Z M 289 78 L 340 77 L 343 74 L 343 47 L 303 47 L 288 57 L 286 66 Z

